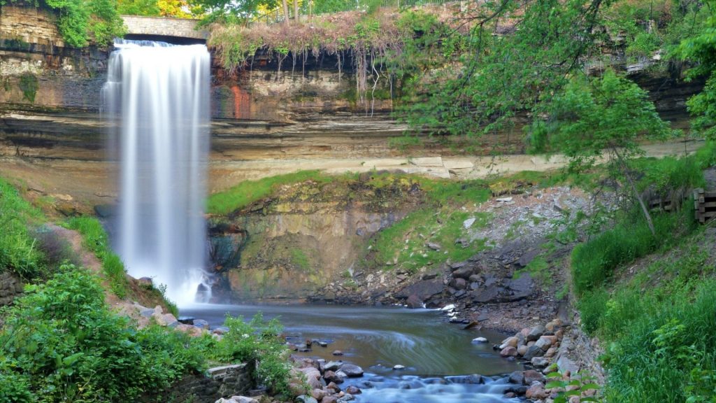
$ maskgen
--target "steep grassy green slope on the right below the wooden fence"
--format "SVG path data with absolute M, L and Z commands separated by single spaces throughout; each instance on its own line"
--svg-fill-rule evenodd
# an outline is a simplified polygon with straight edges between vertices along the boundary
M 637 166 L 644 182 L 700 186 L 715 151 L 710 144 L 694 157 Z M 608 402 L 716 399 L 714 232 L 685 206 L 654 216 L 657 236 L 633 212 L 572 253 L 582 325 L 606 346 Z

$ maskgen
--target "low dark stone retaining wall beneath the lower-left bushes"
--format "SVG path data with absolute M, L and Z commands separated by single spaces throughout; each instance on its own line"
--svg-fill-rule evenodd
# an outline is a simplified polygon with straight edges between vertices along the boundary
M 221 397 L 245 395 L 254 384 L 250 364 L 218 366 L 207 375 L 186 376 L 172 388 L 169 402 L 214 403 Z

